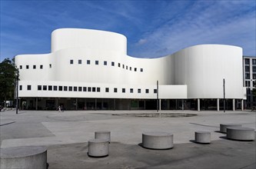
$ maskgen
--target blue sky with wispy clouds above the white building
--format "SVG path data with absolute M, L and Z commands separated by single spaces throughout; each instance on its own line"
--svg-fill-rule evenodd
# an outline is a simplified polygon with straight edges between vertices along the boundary
M 237 45 L 255 56 L 255 0 L 1 0 L 0 61 L 51 51 L 56 28 L 115 31 L 128 55 L 156 58 L 199 44 Z

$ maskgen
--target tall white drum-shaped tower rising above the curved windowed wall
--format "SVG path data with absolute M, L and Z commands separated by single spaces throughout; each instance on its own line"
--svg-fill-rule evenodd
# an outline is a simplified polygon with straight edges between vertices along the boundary
M 52 52 L 65 48 L 85 48 L 91 54 L 104 51 L 126 55 L 127 39 L 124 35 L 110 31 L 81 28 L 60 28 L 52 31 Z M 108 54 L 109 52 L 109 54 Z

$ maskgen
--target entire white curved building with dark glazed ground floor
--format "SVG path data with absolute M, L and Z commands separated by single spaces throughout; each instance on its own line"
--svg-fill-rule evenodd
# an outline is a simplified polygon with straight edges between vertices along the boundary
M 196 45 L 162 58 L 127 55 L 127 39 L 109 31 L 61 28 L 52 52 L 17 55 L 25 109 L 242 108 L 242 48 Z

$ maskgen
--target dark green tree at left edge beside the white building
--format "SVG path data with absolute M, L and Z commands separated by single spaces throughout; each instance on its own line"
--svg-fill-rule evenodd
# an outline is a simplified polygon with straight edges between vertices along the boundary
M 14 100 L 17 72 L 14 58 L 12 60 L 5 58 L 0 63 L 0 101 Z

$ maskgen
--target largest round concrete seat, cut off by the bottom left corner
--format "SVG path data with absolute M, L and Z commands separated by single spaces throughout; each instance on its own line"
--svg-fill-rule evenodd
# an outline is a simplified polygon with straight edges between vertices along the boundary
M 47 148 L 22 146 L 1 148 L 0 168 L 47 168 Z

